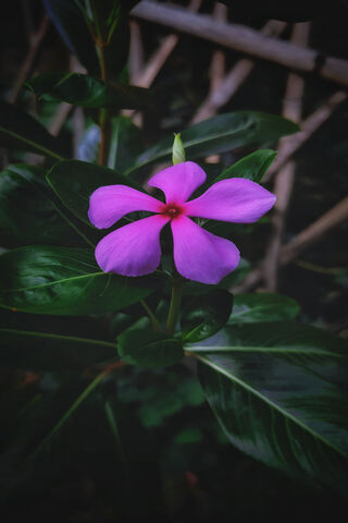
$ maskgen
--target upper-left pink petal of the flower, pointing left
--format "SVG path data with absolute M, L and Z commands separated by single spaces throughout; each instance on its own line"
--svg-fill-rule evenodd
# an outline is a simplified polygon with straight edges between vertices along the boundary
M 127 185 L 105 185 L 97 188 L 89 199 L 88 218 L 98 229 L 108 229 L 134 210 L 159 212 L 163 204 L 149 194 Z

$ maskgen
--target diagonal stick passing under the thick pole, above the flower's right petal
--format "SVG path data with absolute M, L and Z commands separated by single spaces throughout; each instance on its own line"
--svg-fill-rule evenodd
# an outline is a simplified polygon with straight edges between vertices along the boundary
M 270 20 L 261 29 L 261 34 L 268 36 L 279 36 L 287 27 L 285 22 Z M 210 93 L 191 120 L 191 124 L 207 120 L 216 114 L 219 109 L 227 104 L 240 85 L 247 80 L 254 68 L 254 61 L 243 58 L 224 77 L 223 82 L 214 92 Z

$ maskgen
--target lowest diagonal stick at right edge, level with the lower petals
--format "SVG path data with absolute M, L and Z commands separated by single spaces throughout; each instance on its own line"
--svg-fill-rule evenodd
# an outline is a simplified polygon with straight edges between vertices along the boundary
M 321 216 L 318 220 L 307 227 L 302 232 L 294 238 L 281 251 L 281 265 L 287 265 L 313 243 L 321 240 L 335 227 L 348 220 L 348 196 L 339 204 Z M 262 264 L 256 267 L 247 278 L 238 285 L 231 289 L 233 292 L 247 292 L 254 289 L 263 278 Z

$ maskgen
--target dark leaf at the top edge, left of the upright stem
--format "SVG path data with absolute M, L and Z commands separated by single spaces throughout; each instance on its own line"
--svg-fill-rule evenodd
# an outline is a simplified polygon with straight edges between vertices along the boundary
M 72 0 L 44 0 L 44 5 L 64 42 L 91 74 L 99 74 L 99 61 L 86 17 Z

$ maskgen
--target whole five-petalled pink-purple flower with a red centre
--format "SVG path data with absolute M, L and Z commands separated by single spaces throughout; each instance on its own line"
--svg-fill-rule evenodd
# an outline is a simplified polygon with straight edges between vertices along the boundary
M 148 184 L 164 193 L 165 204 L 126 185 L 97 188 L 90 196 L 88 217 L 98 229 L 113 226 L 128 212 L 156 212 L 116 229 L 98 243 L 96 259 L 101 269 L 122 276 L 153 272 L 161 260 L 160 233 L 170 223 L 174 263 L 182 276 L 219 283 L 233 271 L 239 263 L 236 245 L 202 229 L 190 217 L 252 223 L 271 209 L 275 195 L 250 180 L 232 178 L 216 182 L 189 200 L 206 178 L 192 161 L 154 174 Z

